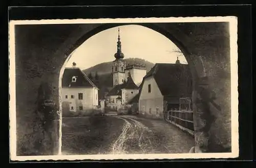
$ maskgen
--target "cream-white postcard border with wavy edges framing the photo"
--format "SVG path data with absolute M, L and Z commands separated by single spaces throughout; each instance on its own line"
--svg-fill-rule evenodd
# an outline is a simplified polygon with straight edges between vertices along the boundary
M 185 153 L 185 154 L 121 154 L 121 155 L 59 155 L 16 156 L 16 95 L 15 95 L 15 25 L 76 24 L 76 23 L 143 23 L 143 22 L 229 22 L 231 67 L 231 153 Z M 9 116 L 10 156 L 12 161 L 28 160 L 113 160 L 113 159 L 203 159 L 236 158 L 239 156 L 238 133 L 238 45 L 237 17 L 162 17 L 162 18 L 103 18 L 103 19 L 42 19 L 11 20 L 9 22 Z

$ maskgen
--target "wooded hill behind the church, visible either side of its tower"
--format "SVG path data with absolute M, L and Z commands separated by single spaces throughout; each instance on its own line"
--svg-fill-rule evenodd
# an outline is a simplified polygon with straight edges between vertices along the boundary
M 124 60 L 126 62 L 126 65 L 134 64 L 135 62 L 139 64 L 144 64 L 147 68 L 147 72 L 150 71 L 150 69 L 155 65 L 152 62 L 148 62 L 140 58 L 127 58 Z M 83 70 L 83 72 L 88 77 L 90 76 L 90 74 L 92 75 L 92 77 L 89 78 L 91 78 L 92 81 L 99 87 L 99 98 L 101 98 L 104 92 L 108 92 L 113 86 L 112 66 L 113 62 L 103 62 Z M 95 75 L 97 76 L 96 78 Z

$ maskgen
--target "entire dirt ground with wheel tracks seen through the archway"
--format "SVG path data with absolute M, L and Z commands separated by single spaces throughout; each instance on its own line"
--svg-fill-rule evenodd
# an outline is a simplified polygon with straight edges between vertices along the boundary
M 188 153 L 193 146 L 193 137 L 158 119 L 133 115 L 63 119 L 64 154 Z

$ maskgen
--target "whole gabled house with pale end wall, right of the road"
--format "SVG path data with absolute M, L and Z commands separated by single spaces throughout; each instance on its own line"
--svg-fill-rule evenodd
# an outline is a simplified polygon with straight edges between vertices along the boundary
M 156 63 L 142 81 L 139 113 L 163 118 L 165 110 L 179 110 L 180 98 L 191 98 L 192 78 L 187 64 Z

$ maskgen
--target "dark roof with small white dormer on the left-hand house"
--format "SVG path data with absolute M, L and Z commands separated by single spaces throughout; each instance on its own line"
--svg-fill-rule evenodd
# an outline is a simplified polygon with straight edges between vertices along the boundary
M 72 77 L 76 77 L 76 81 L 72 82 Z M 88 77 L 84 74 L 80 68 L 72 67 L 65 68 L 62 81 L 62 87 L 96 87 L 98 88 Z

